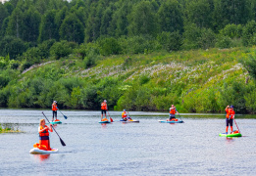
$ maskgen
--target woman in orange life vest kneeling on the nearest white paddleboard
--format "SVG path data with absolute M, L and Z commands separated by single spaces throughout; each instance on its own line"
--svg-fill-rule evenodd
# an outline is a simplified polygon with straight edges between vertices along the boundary
M 51 151 L 49 131 L 53 132 L 52 124 L 50 124 L 50 127 L 48 127 L 45 125 L 45 120 L 40 119 L 40 125 L 38 127 L 38 132 L 39 132 L 39 149 L 41 149 L 41 150 Z

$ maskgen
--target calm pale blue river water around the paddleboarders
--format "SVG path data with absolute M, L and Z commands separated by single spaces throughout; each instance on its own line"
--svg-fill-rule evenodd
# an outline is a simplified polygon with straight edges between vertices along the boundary
M 29 154 L 41 112 L 0 110 L 0 123 L 24 131 L 0 134 L 1 175 L 256 175 L 256 119 L 249 116 L 235 120 L 243 137 L 224 138 L 221 114 L 181 114 L 184 123 L 167 124 L 158 120 L 168 113 L 130 111 L 139 123 L 102 125 L 99 111 L 63 110 L 68 119 L 58 112 L 56 131 L 67 146 L 53 132 L 58 154 Z M 120 119 L 120 111 L 110 114 Z

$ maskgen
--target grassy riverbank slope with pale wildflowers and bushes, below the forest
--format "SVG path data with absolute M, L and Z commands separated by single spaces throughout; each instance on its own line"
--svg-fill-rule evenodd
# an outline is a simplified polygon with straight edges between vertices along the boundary
M 254 112 L 255 81 L 238 62 L 255 57 L 255 48 L 210 49 L 98 57 L 96 64 L 71 55 L 31 66 L 7 68 L 0 106 L 98 110 L 106 99 L 111 110 L 221 112 L 233 105 Z M 8 66 L 7 66 L 8 67 Z M 10 67 L 10 66 L 9 66 Z

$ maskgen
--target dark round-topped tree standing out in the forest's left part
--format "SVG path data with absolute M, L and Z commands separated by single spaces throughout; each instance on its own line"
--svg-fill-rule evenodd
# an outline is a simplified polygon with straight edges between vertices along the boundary
M 66 17 L 60 27 L 61 40 L 82 43 L 84 38 L 84 28 L 77 16 L 71 14 Z

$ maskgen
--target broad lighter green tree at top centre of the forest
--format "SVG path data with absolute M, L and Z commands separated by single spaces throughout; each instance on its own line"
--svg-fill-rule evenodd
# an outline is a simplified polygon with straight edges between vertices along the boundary
M 158 31 L 156 15 L 149 1 L 142 1 L 134 6 L 128 15 L 128 23 L 129 35 L 155 35 Z

